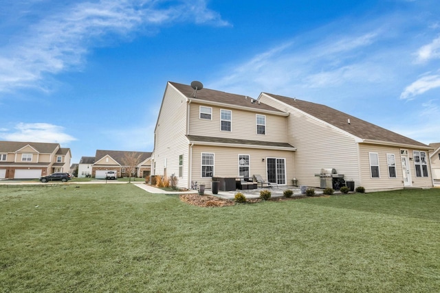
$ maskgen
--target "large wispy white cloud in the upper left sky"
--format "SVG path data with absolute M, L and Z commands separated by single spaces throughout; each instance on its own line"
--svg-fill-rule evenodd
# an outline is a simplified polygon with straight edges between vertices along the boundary
M 125 38 L 146 29 L 145 26 L 157 27 L 175 22 L 229 25 L 217 12 L 206 8 L 204 0 L 196 3 L 182 0 L 168 7 L 164 6 L 166 3 L 148 0 L 86 1 L 50 10 L 50 15 L 39 12 L 37 21 L 28 24 L 27 32 L 23 32 L 22 28 L 5 46 L 0 47 L 0 92 L 22 86 L 36 86 L 43 90 L 39 82 L 46 74 L 80 67 L 89 49 L 96 46 L 96 42 L 105 42 L 108 34 Z M 19 13 L 21 11 L 17 11 Z

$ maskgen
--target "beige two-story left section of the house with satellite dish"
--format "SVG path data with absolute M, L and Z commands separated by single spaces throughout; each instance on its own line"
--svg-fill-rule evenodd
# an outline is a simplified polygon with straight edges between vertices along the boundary
M 179 187 L 210 186 L 213 176 L 262 174 L 286 185 L 296 148 L 287 142 L 289 113 L 252 97 L 168 82 L 155 126 L 153 174 Z

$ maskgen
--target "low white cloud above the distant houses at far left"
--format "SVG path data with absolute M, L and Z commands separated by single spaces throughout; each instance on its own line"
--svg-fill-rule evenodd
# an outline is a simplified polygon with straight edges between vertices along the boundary
M 2 128 L 0 139 L 5 141 L 32 141 L 67 144 L 76 139 L 65 133 L 65 128 L 47 123 L 19 123 L 14 130 Z

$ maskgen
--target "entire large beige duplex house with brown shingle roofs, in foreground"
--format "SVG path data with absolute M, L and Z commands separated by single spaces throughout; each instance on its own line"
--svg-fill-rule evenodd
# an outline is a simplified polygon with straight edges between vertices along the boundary
M 432 187 L 430 146 L 333 108 L 261 93 L 258 99 L 168 82 L 155 126 L 153 174 L 179 187 L 261 174 L 320 186 L 334 168 L 367 191 Z

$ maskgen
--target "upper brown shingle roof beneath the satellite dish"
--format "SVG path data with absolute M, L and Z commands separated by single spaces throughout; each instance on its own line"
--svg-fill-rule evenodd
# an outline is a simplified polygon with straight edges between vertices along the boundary
M 276 108 L 273 108 L 266 104 L 259 104 L 258 102 L 251 103 L 252 97 L 247 97 L 245 95 L 236 95 L 234 93 L 225 93 L 224 91 L 215 91 L 212 89 L 206 89 L 203 88 L 199 91 L 197 91 L 196 97 L 193 97 L 194 89 L 192 89 L 191 86 L 187 84 L 179 84 L 177 82 L 169 82 L 175 88 L 180 91 L 185 97 L 191 98 L 191 99 L 200 99 L 208 102 L 217 102 L 222 104 L 228 104 L 231 106 L 242 106 L 247 107 L 252 110 L 258 111 L 258 110 L 270 110 L 278 113 L 284 113 L 281 110 L 278 110 Z M 256 99 L 254 99 L 256 100 Z

